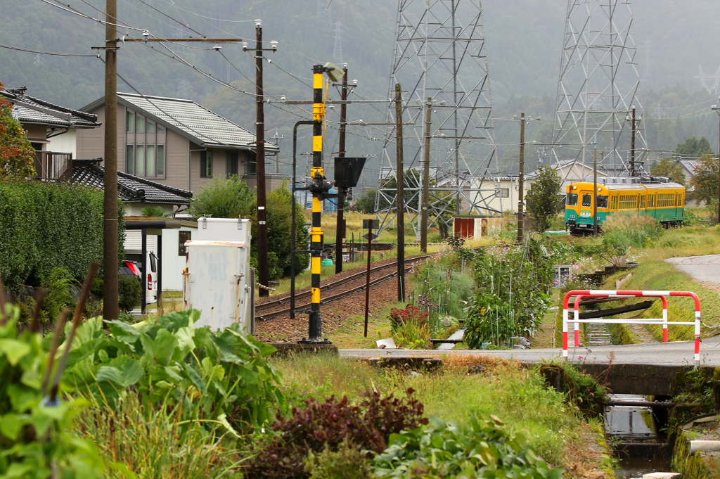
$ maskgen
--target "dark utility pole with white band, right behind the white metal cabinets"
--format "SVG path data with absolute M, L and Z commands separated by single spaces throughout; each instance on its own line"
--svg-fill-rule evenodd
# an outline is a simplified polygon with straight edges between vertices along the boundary
M 263 109 L 263 29 L 261 21 L 255 21 L 255 138 L 256 178 L 258 185 L 258 282 L 261 297 L 269 295 L 268 286 L 268 227 L 265 195 L 265 112 Z

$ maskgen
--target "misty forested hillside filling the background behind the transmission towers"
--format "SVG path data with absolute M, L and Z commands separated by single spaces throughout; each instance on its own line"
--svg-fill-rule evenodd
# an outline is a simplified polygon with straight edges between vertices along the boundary
M 470 1 L 470 0 L 466 0 Z M 69 2 L 69 3 L 68 3 Z M 0 45 L 58 53 L 92 54 L 102 46 L 104 26 L 63 9 L 97 18 L 102 0 L 0 1 Z M 54 5 L 54 6 L 53 6 Z M 642 75 L 639 104 L 652 150 L 672 150 L 698 135 L 717 148 L 716 114 L 709 106 L 715 92 L 701 89 L 698 66 L 714 72 L 720 65 L 715 40 L 720 4 L 712 0 L 634 2 L 634 30 Z M 63 9 L 60 9 L 62 7 Z M 151 8 L 151 7 L 154 7 Z M 541 116 L 528 127 L 528 138 L 552 140 L 557 75 L 564 34 L 565 0 L 487 0 L 483 2 L 500 169 L 516 170 L 519 112 Z M 356 94 L 366 99 L 388 95 L 395 38 L 395 0 L 119 0 L 122 24 L 162 37 L 243 37 L 254 45 L 254 22 L 263 20 L 264 39 L 279 41 L 267 53 L 265 87 L 274 98 L 310 99 L 310 68 L 315 62 L 348 63 Z M 157 10 L 160 12 L 158 12 Z M 161 13 L 162 12 L 162 13 Z M 336 30 L 341 53 L 336 50 Z M 140 31 L 121 28 L 122 35 Z M 141 45 L 126 43 L 119 54 L 120 75 L 143 94 L 187 97 L 248 128 L 253 127 L 253 58 L 240 45 Z M 225 58 L 223 58 L 225 56 Z M 194 70 L 187 64 L 194 66 Z M 40 55 L 0 48 L 0 81 L 28 86 L 28 94 L 69 107 L 82 107 L 102 96 L 103 63 L 98 58 Z M 213 81 L 199 71 L 212 74 Z M 223 84 L 230 83 L 234 89 Z M 714 80 L 709 80 L 710 86 Z M 121 91 L 132 88 L 119 81 Z M 334 91 L 330 97 L 338 97 Z M 351 105 L 348 119 L 385 120 L 383 104 Z M 287 171 L 292 124 L 307 119 L 298 107 L 266 108 L 268 135 L 284 135 L 282 170 Z M 337 151 L 338 112 L 328 115 L 328 151 Z M 367 181 L 373 182 L 382 156 L 383 127 L 349 128 L 348 154 L 371 157 Z M 302 142 L 301 142 L 302 143 Z M 300 146 L 302 151 L 309 145 Z M 660 154 L 660 153 L 658 153 Z M 535 148 L 529 152 L 534 167 Z M 303 158 L 304 160 L 305 158 Z

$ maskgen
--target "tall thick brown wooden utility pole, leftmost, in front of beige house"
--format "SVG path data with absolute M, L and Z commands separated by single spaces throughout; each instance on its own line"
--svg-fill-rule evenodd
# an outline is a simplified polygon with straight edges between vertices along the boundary
M 105 152 L 103 192 L 103 317 L 118 318 L 117 270 L 117 1 L 105 4 Z M 143 258 L 145 264 L 145 258 Z M 143 291 L 143 297 L 146 292 Z

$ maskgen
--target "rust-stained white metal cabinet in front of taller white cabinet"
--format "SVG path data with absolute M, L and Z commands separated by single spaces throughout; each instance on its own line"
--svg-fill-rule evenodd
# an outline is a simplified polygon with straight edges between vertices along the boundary
M 222 329 L 240 323 L 243 332 L 254 332 L 255 280 L 250 269 L 249 222 L 245 233 L 246 241 L 185 243 L 183 305 L 186 310 L 200 310 L 195 326 Z

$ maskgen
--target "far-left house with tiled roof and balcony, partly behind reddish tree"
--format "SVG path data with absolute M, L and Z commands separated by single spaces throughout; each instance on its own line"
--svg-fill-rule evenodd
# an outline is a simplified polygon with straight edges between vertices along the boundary
M 27 94 L 27 87 L 0 91 L 12 103 L 12 115 L 19 120 L 35 148 L 35 171 L 40 179 L 66 178 L 77 158 L 77 132 L 101 127 L 97 116 L 62 107 Z

